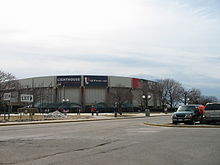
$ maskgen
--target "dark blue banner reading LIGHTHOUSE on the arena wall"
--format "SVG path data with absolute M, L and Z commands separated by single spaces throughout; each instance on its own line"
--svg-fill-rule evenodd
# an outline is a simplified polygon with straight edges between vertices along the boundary
M 65 87 L 80 87 L 81 76 L 57 76 L 57 85 Z

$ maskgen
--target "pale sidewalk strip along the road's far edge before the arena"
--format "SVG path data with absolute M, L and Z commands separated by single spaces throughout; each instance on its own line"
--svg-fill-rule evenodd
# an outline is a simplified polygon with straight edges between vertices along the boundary
M 98 116 L 90 113 L 81 113 L 80 115 L 68 114 L 67 116 L 74 116 L 73 119 L 55 119 L 55 120 L 41 120 L 41 121 L 21 121 L 21 122 L 0 122 L 0 126 L 15 126 L 15 125 L 32 125 L 32 124 L 52 124 L 52 123 L 68 123 L 68 122 L 88 122 L 88 121 L 100 121 L 100 120 L 118 120 L 118 119 L 131 119 L 131 118 L 145 118 L 156 116 L 170 116 L 171 114 L 165 113 L 151 113 L 150 116 L 145 116 L 145 113 L 123 113 L 122 116 L 118 114 L 114 117 L 114 113 L 99 113 Z

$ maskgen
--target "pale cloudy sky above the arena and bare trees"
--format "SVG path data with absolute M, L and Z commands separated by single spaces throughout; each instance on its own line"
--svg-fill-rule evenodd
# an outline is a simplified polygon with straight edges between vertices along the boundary
M 220 99 L 219 0 L 0 0 L 0 69 L 17 78 L 171 78 Z

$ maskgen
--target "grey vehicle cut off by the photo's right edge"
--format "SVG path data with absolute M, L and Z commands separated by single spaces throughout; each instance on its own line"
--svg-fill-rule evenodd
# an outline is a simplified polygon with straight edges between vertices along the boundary
M 220 103 L 207 103 L 204 111 L 205 123 L 220 122 Z

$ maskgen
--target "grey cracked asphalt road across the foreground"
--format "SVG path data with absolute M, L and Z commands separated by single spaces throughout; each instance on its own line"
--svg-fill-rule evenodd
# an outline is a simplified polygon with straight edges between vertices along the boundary
M 0 165 L 219 165 L 219 128 L 165 128 L 150 117 L 0 127 Z

